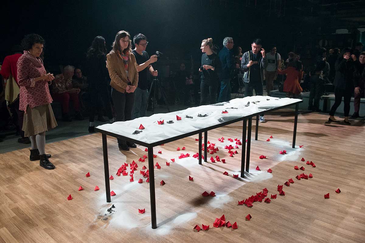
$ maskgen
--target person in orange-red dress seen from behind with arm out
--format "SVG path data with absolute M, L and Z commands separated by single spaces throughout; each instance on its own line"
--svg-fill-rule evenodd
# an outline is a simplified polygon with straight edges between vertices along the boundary
M 278 69 L 279 74 L 287 74 L 287 79 L 284 81 L 284 92 L 288 98 L 296 98 L 303 91 L 300 87 L 300 80 L 303 76 L 302 64 L 300 61 L 291 61 L 284 70 Z

